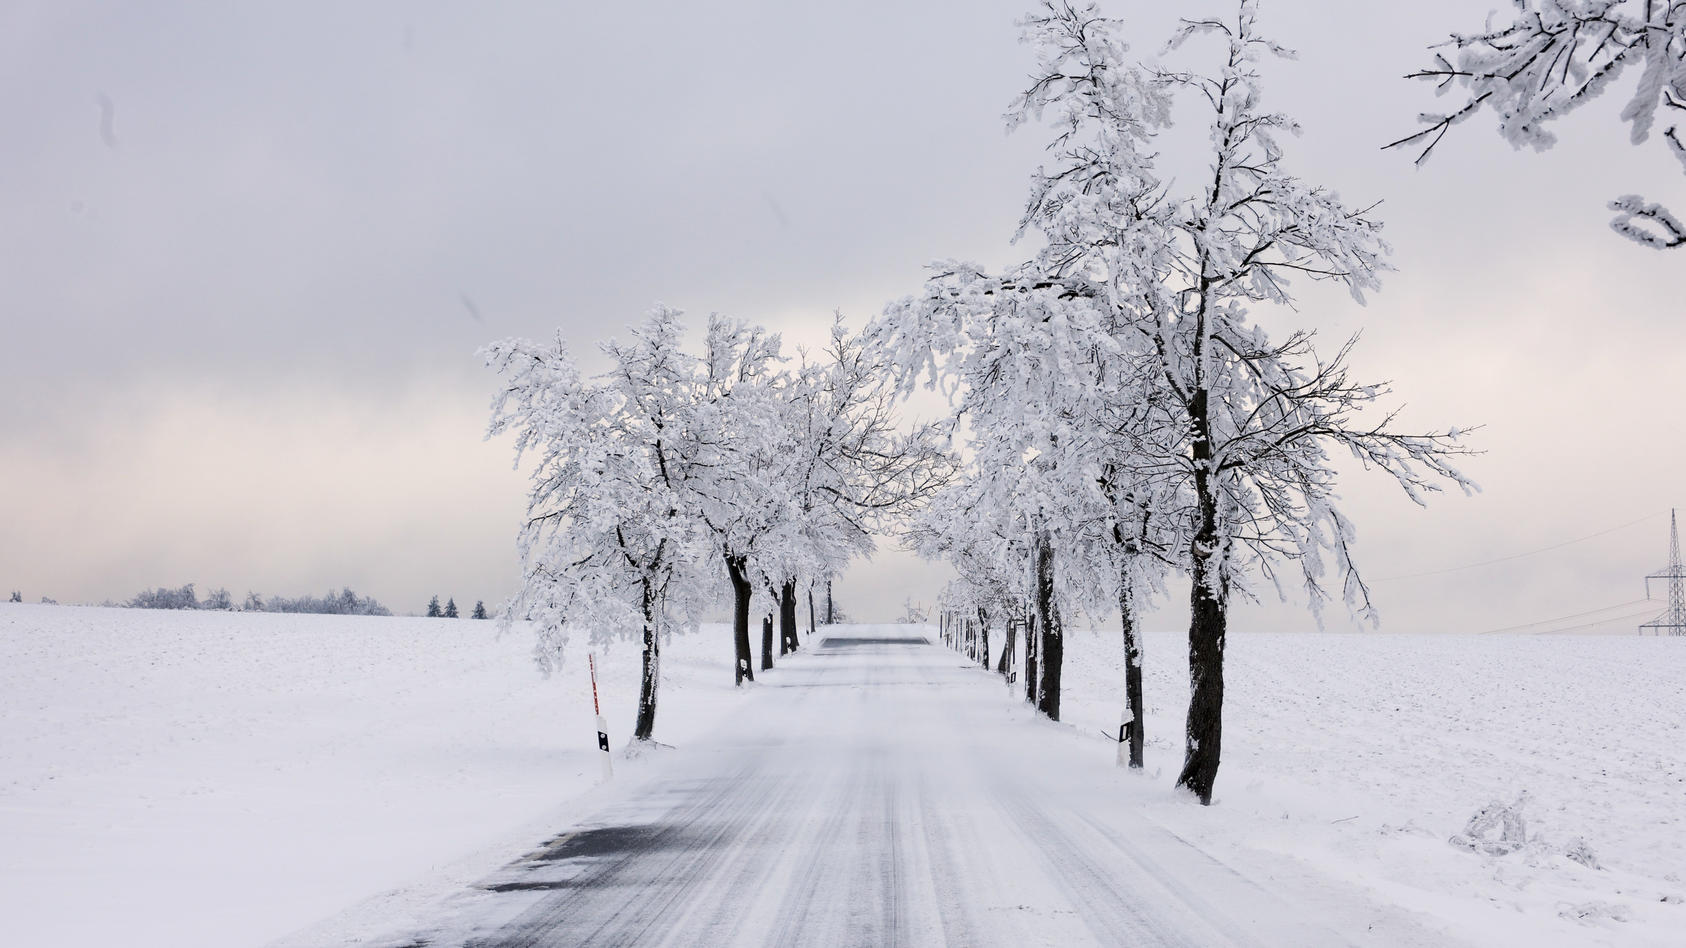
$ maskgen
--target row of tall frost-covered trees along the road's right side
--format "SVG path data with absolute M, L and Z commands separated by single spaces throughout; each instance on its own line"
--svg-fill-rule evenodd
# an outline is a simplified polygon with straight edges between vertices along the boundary
M 1179 786 L 1211 803 L 1222 742 L 1229 604 L 1249 572 L 1298 574 L 1313 609 L 1369 595 L 1335 506 L 1334 452 L 1389 474 L 1416 501 L 1455 484 L 1460 432 L 1409 434 L 1377 412 L 1386 385 L 1354 381 L 1354 339 L 1268 334 L 1256 310 L 1291 307 L 1291 280 L 1339 283 L 1359 304 L 1388 270 L 1369 207 L 1285 167 L 1293 123 L 1261 106 L 1258 62 L 1285 56 L 1256 3 L 1184 20 L 1172 56 L 1130 57 L 1093 3 L 1047 2 L 1023 20 L 1037 69 L 1010 127 L 1045 123 L 1018 236 L 1040 250 L 990 273 L 942 261 L 924 292 L 887 309 L 872 347 L 956 407 L 964 476 L 912 530 L 954 563 L 946 609 L 1034 629 L 1027 698 L 1059 717 L 1062 611 L 1118 609 L 1130 764 L 1141 766 L 1140 609 L 1168 574 L 1190 580 L 1185 756 Z M 1187 51 L 1184 51 L 1187 47 Z M 1184 52 L 1179 52 L 1184 51 Z M 1160 172 L 1182 110 L 1204 115 L 1207 165 Z M 1010 633 L 1012 634 L 1012 633 Z M 1003 665 L 1005 671 L 1005 665 Z

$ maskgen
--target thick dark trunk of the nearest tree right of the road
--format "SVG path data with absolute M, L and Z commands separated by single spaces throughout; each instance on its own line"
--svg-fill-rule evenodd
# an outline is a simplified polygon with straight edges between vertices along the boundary
M 1189 729 L 1187 752 L 1177 786 L 1194 791 L 1200 803 L 1212 803 L 1217 759 L 1224 741 L 1224 628 L 1227 584 L 1219 572 L 1217 484 L 1207 467 L 1212 442 L 1205 418 L 1205 393 L 1197 391 L 1190 407 L 1194 420 L 1194 493 L 1200 521 L 1194 533 L 1189 616 Z

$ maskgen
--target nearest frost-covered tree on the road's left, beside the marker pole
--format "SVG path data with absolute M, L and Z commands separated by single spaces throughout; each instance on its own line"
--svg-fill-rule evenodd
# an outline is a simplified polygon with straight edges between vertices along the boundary
M 518 466 L 536 455 L 521 587 L 501 621 L 533 621 L 546 671 L 570 631 L 595 643 L 637 636 L 639 741 L 654 732 L 661 641 L 695 626 L 691 590 L 706 557 L 691 479 L 718 435 L 698 427 L 705 366 L 683 351 L 681 332 L 681 314 L 656 307 L 632 342 L 604 347 L 612 368 L 599 378 L 582 376 L 560 337 L 486 349 L 504 376 L 487 437 L 514 434 Z

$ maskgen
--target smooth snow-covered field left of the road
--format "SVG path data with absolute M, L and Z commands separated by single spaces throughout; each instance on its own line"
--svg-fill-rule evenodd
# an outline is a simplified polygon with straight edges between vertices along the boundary
M 533 823 L 599 764 L 583 653 L 529 654 L 465 619 L 0 607 L 5 941 L 260 945 Z M 637 658 L 599 656 L 617 746 Z M 735 703 L 720 629 L 664 673 L 668 741 Z

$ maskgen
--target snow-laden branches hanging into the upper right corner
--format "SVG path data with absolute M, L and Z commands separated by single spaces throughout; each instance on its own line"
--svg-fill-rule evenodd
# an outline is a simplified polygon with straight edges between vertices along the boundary
M 1423 128 L 1389 143 L 1420 147 L 1423 164 L 1435 145 L 1482 108 L 1499 118 L 1499 133 L 1521 148 L 1556 143 L 1551 125 L 1617 84 L 1624 71 L 1639 73 L 1622 108 L 1629 138 L 1651 138 L 1657 116 L 1686 116 L 1686 0 L 1514 0 L 1514 15 L 1480 32 L 1452 34 L 1426 69 L 1438 91 L 1458 88 L 1452 111 L 1421 115 Z M 1664 148 L 1686 170 L 1679 125 L 1662 130 Z M 1639 194 L 1610 202 L 1615 233 L 1657 250 L 1686 246 L 1686 224 L 1662 204 Z

